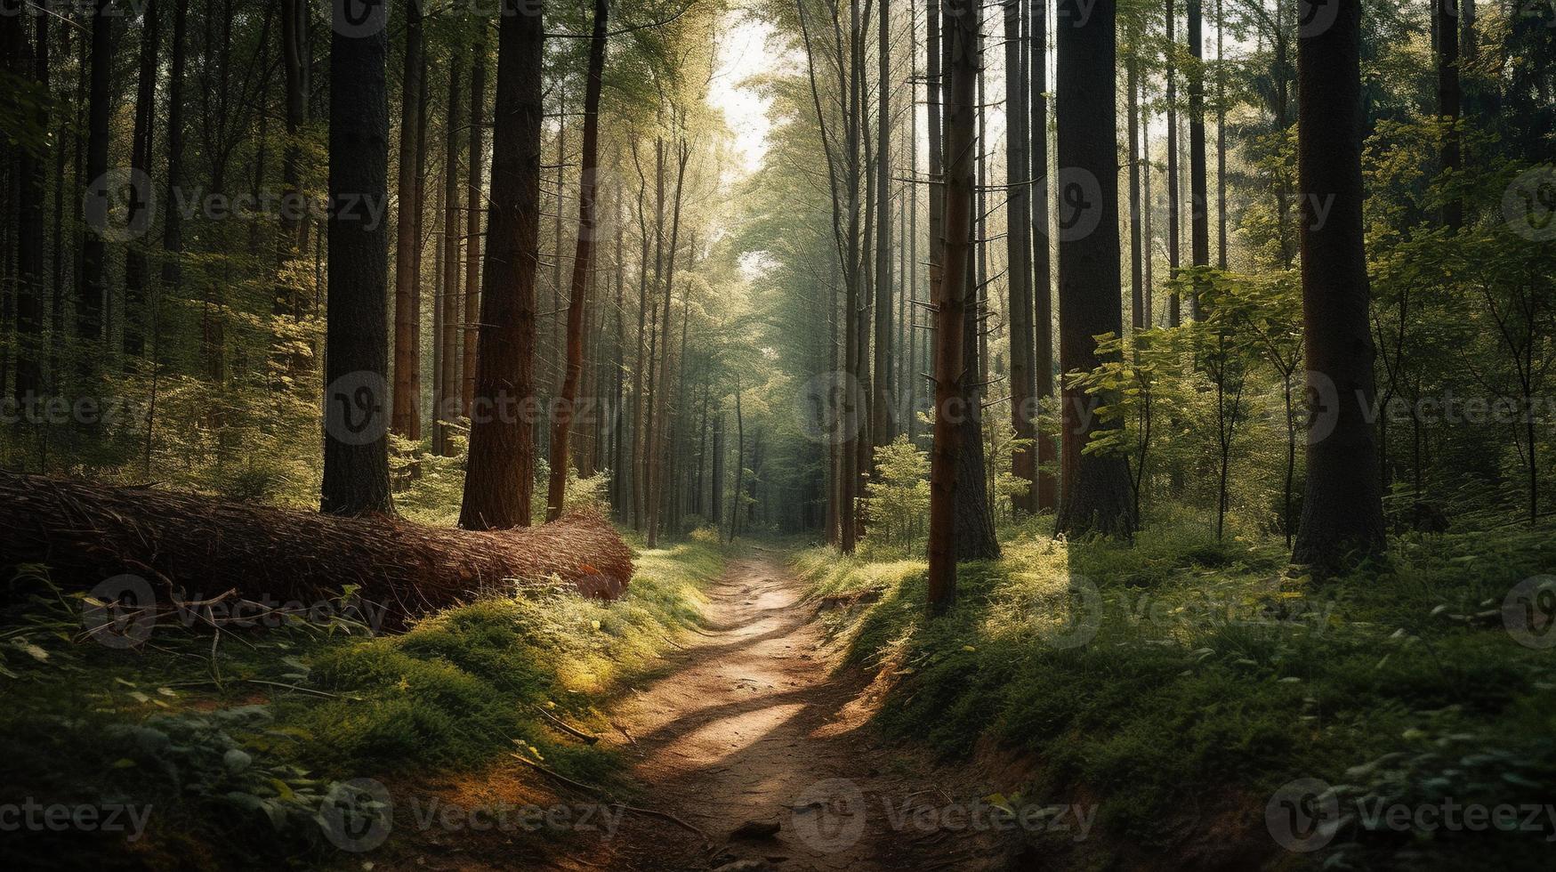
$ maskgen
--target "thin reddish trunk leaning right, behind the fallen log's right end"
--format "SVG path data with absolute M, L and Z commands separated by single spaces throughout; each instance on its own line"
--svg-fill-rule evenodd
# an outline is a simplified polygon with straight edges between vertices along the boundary
M 584 156 L 579 173 L 579 240 L 573 257 L 573 290 L 568 297 L 568 363 L 557 391 L 555 419 L 551 422 L 551 481 L 546 492 L 546 520 L 562 517 L 568 490 L 568 438 L 573 430 L 579 377 L 584 372 L 584 304 L 590 266 L 594 263 L 594 195 L 599 174 L 599 95 L 605 76 L 607 0 L 594 0 L 594 33 L 588 50 L 588 84 L 584 92 Z

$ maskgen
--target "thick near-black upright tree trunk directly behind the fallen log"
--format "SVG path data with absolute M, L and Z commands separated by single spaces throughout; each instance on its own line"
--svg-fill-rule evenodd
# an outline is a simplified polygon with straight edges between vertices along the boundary
M 394 512 L 389 495 L 389 234 L 370 206 L 389 199 L 389 97 L 383 26 L 352 36 L 331 6 L 330 40 L 330 305 L 325 336 L 322 509 Z M 380 14 L 384 14 L 380 8 Z

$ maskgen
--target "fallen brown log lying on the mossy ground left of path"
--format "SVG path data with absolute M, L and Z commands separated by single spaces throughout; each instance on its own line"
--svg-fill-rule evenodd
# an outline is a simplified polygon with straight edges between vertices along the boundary
M 559 581 L 615 600 L 632 578 L 632 548 L 587 512 L 470 533 L 0 473 L 0 578 L 22 564 L 48 567 L 54 584 L 76 592 L 140 576 L 174 601 L 235 592 L 255 603 L 310 604 L 353 587 L 401 626 L 479 593 Z

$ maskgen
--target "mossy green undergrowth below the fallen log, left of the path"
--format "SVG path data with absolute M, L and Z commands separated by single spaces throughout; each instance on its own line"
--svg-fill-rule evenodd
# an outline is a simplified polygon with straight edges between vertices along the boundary
M 219 635 L 165 621 L 132 651 L 84 642 L 79 598 L 34 595 L 0 638 L 0 791 L 149 807 L 140 839 L 82 852 L 70 835 L 72 856 L 109 869 L 355 861 L 321 830 L 342 783 L 513 766 L 548 786 L 510 754 L 616 791 L 615 754 L 551 718 L 608 732 L 601 708 L 697 624 L 722 562 L 699 542 L 641 551 L 608 604 L 484 598 L 381 637 L 342 620 Z M 26 590 L 50 590 L 28 571 Z M 23 835 L 0 863 L 54 838 Z

